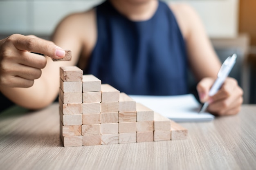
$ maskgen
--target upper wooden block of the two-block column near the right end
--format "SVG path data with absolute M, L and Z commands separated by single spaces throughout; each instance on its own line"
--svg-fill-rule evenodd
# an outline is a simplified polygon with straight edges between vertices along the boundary
M 171 120 L 154 112 L 154 130 L 171 130 Z

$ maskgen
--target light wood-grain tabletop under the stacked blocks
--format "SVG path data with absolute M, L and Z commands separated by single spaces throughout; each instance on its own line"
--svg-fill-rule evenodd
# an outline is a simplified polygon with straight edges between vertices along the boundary
M 180 123 L 188 139 L 63 147 L 58 104 L 0 114 L 1 170 L 255 170 L 256 105 L 210 122 Z

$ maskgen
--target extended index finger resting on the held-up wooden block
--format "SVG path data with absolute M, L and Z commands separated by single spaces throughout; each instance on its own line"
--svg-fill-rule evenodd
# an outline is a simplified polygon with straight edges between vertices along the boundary
M 13 45 L 22 51 L 41 53 L 52 58 L 63 58 L 65 51 L 55 44 L 39 38 L 31 38 L 25 35 L 15 35 Z

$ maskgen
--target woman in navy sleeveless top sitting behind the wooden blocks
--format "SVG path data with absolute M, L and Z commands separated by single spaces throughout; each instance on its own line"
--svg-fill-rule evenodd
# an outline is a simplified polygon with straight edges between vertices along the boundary
M 52 62 L 50 57 L 65 55 L 63 49 L 72 51 L 72 61 Z M 188 93 L 190 67 L 199 82 L 201 102 L 210 103 L 209 112 L 236 114 L 243 103 L 243 91 L 232 78 L 216 95 L 208 96 L 220 62 L 198 15 L 185 4 L 107 0 L 64 18 L 52 42 L 11 35 L 0 41 L 0 51 L 0 91 L 26 108 L 43 108 L 56 99 L 59 67 L 67 65 L 77 65 L 121 92 L 138 95 Z

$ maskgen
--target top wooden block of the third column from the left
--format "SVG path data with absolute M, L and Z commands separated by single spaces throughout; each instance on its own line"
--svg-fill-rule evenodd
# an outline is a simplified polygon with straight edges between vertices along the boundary
M 120 91 L 109 84 L 101 84 L 102 102 L 119 102 Z

